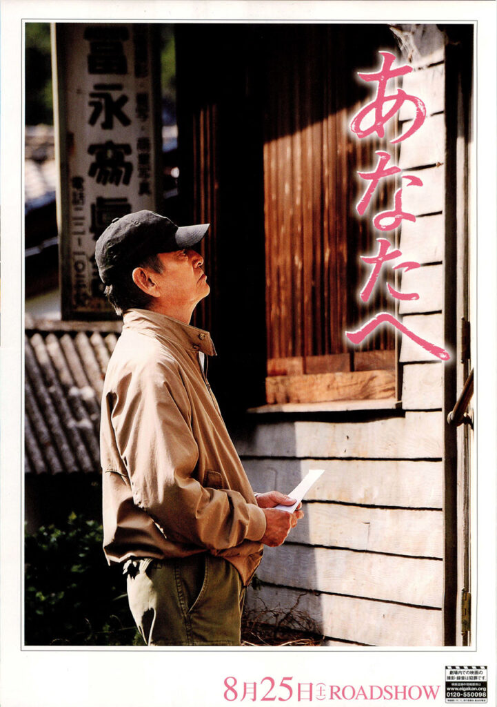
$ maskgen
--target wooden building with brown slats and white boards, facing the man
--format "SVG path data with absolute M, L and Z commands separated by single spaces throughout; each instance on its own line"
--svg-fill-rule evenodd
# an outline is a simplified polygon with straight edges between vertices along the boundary
M 419 298 L 397 315 L 449 349 L 448 363 L 393 327 L 359 348 L 344 337 L 393 309 L 381 293 L 358 304 L 359 255 L 382 234 L 354 210 L 356 173 L 386 143 L 348 126 L 371 100 L 357 71 L 375 69 L 380 49 L 400 57 L 398 45 L 414 69 L 402 88 L 426 120 L 393 153 L 424 183 L 405 189 L 416 222 L 395 233 L 421 264 L 400 285 Z M 256 490 L 287 492 L 325 469 L 305 520 L 265 551 L 249 605 L 308 612 L 328 645 L 465 643 L 471 440 L 446 419 L 470 368 L 458 329 L 469 321 L 472 28 L 181 25 L 176 52 L 184 219 L 212 223 L 213 291 L 197 322 L 219 354 L 213 388 Z

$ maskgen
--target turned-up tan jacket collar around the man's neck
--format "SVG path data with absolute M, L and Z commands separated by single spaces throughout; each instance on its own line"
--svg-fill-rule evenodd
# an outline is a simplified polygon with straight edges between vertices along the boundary
M 124 312 L 123 331 L 134 329 L 163 341 L 174 341 L 188 351 L 203 351 L 215 356 L 216 351 L 209 332 L 191 327 L 177 319 L 150 310 L 130 309 Z

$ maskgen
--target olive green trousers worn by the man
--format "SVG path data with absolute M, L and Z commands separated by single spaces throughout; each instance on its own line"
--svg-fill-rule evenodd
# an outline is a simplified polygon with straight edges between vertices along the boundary
M 234 566 L 200 553 L 124 563 L 128 602 L 147 645 L 240 645 L 245 588 Z

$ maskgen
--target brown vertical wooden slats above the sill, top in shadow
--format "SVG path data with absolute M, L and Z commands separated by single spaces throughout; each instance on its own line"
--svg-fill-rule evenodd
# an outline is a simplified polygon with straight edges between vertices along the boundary
M 363 30 L 364 31 L 364 30 Z M 357 38 L 357 37 L 356 37 Z M 371 93 L 354 80 L 371 50 L 347 52 L 350 28 L 285 27 L 265 58 L 264 196 L 268 359 L 347 351 L 344 332 L 373 310 L 392 307 L 385 287 L 358 305 L 368 274 L 359 255 L 376 251 L 372 214 L 388 208 L 393 180 L 383 180 L 364 216 L 356 176 L 376 163 L 386 139 L 359 140 L 349 122 Z M 370 42 L 366 42 L 371 47 Z M 361 182 L 361 183 L 359 183 Z M 361 348 L 393 349 L 384 328 Z

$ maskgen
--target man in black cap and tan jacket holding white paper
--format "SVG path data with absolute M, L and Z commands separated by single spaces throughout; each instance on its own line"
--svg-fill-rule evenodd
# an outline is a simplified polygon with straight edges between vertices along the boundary
M 208 226 L 138 211 L 95 250 L 124 314 L 102 396 L 104 552 L 148 645 L 239 645 L 262 545 L 303 515 L 274 508 L 292 504 L 277 491 L 254 496 L 205 378 L 214 345 L 189 322 L 210 291 L 192 250 Z

